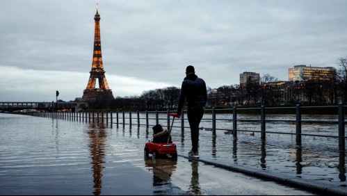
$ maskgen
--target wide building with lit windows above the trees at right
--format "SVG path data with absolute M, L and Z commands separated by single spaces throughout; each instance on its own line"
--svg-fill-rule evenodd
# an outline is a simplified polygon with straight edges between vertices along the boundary
M 306 65 L 295 65 L 288 71 L 289 81 L 306 81 L 311 79 L 330 80 L 334 78 L 336 69 L 334 67 L 306 67 Z

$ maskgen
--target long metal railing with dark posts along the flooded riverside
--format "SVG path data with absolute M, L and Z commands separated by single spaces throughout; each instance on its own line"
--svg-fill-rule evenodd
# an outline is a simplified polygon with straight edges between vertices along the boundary
M 303 109 L 333 109 L 337 111 L 336 119 L 334 120 L 305 120 L 302 119 L 302 110 Z M 275 118 L 267 118 L 268 113 L 271 113 L 271 110 L 283 110 L 290 109 L 295 110 L 295 115 L 289 118 L 275 119 Z M 240 114 L 244 111 L 253 111 L 252 113 L 256 113 L 253 118 L 243 118 Z M 128 124 L 129 126 L 137 125 L 137 126 L 154 126 L 155 124 L 159 124 L 159 122 L 167 123 L 167 127 L 170 128 L 170 113 L 172 111 L 144 111 L 144 112 L 131 112 L 131 111 L 117 111 L 115 113 L 90 113 L 90 112 L 81 112 L 81 113 L 26 113 L 29 115 L 40 116 L 40 117 L 52 117 L 61 120 L 73 120 L 80 122 L 106 122 L 106 126 L 113 126 L 114 124 L 118 127 L 120 124 L 123 126 Z M 181 128 L 181 131 L 184 129 L 189 129 L 188 121 L 185 118 L 185 112 L 183 111 L 179 123 L 179 126 L 175 125 L 172 127 Z M 260 133 L 261 139 L 266 139 L 266 134 L 286 134 L 292 135 L 296 137 L 296 144 L 302 144 L 302 136 L 312 136 L 312 137 L 323 137 L 323 138 L 337 138 L 339 150 L 345 151 L 345 141 L 346 141 L 346 106 L 343 104 L 339 104 L 337 106 L 291 106 L 291 107 L 271 107 L 266 108 L 265 106 L 257 107 L 257 108 L 229 108 L 229 109 L 216 109 L 212 108 L 211 110 L 206 110 L 206 113 L 211 113 L 209 117 L 202 118 L 202 122 L 204 124 L 210 125 L 205 127 L 200 127 L 200 129 L 205 129 L 212 131 L 212 137 L 216 137 L 216 131 L 225 131 L 226 134 L 232 134 L 234 138 L 237 138 L 238 133 L 243 132 L 251 132 L 252 134 Z M 221 113 L 223 118 L 218 117 Z M 133 117 L 134 116 L 134 117 Z M 223 122 L 222 122 L 223 121 Z M 239 129 L 238 126 L 243 123 L 252 122 L 259 125 L 259 129 Z M 266 124 L 270 122 L 288 122 L 291 124 L 295 124 L 295 133 L 293 131 L 267 131 Z M 219 128 L 218 123 L 222 124 L 223 127 Z M 332 130 L 332 134 L 318 134 L 318 133 L 303 133 L 303 124 L 336 124 L 337 130 Z

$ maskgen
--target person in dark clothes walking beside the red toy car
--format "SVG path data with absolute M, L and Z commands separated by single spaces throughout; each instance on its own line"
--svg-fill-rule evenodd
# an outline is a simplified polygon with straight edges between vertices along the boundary
M 191 158 L 199 158 L 199 124 L 204 115 L 204 106 L 207 101 L 206 83 L 195 75 L 195 69 L 192 65 L 186 67 L 186 77 L 181 85 L 181 95 L 179 96 L 179 104 L 177 115 L 181 116 L 181 110 L 184 101 L 187 101 L 187 116 L 189 126 L 191 127 L 192 149 L 188 153 Z

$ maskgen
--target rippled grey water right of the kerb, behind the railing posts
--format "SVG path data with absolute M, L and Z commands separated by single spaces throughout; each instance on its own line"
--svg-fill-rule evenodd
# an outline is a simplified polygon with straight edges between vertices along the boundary
M 129 115 L 125 115 L 125 124 L 129 123 Z M 134 117 L 133 117 L 134 118 Z M 140 119 L 145 116 L 140 116 Z M 154 114 L 149 116 L 154 124 Z M 166 113 L 159 115 L 161 124 L 165 126 Z M 252 168 L 282 172 L 303 179 L 312 179 L 346 187 L 346 152 L 339 150 L 337 115 L 302 115 L 302 121 L 321 120 L 328 123 L 302 122 L 302 134 L 321 136 L 302 136 L 302 145 L 296 145 L 295 115 L 266 115 L 266 140 L 261 140 L 259 115 L 239 114 L 237 119 L 237 139 L 225 134 L 225 129 L 232 129 L 232 114 L 216 116 L 216 137 L 211 131 L 211 114 L 204 114 L 200 127 L 200 156 L 208 154 L 205 159 L 223 163 L 224 165 L 248 165 Z M 248 122 L 241 120 L 250 120 Z M 277 121 L 271 121 L 277 120 Z M 284 121 L 282 121 L 284 120 Z M 287 120 L 288 122 L 285 122 Z M 132 122 L 136 124 L 136 120 Z M 171 122 L 170 122 L 171 123 Z M 145 122 L 141 122 L 145 124 Z M 122 126 L 122 125 L 120 125 Z M 134 126 L 134 125 L 133 125 Z M 172 137 L 177 138 L 177 147 L 181 152 L 188 152 L 191 147 L 189 128 L 181 131 L 180 120 L 175 120 Z M 188 127 L 188 121 L 184 120 Z M 347 126 L 347 124 L 345 125 Z M 136 126 L 137 127 L 137 126 Z M 345 128 L 346 129 L 346 128 Z M 277 134 L 284 133 L 284 134 Z M 323 136 L 323 137 L 322 137 Z

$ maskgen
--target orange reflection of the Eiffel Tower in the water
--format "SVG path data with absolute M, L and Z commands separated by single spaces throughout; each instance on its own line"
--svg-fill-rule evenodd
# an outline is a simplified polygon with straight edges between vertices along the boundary
M 102 192 L 102 170 L 105 163 L 104 161 L 104 147 L 107 137 L 106 129 L 104 124 L 90 124 L 88 130 L 88 136 L 90 138 L 90 155 L 92 157 L 92 172 L 94 181 L 94 195 L 100 195 Z

